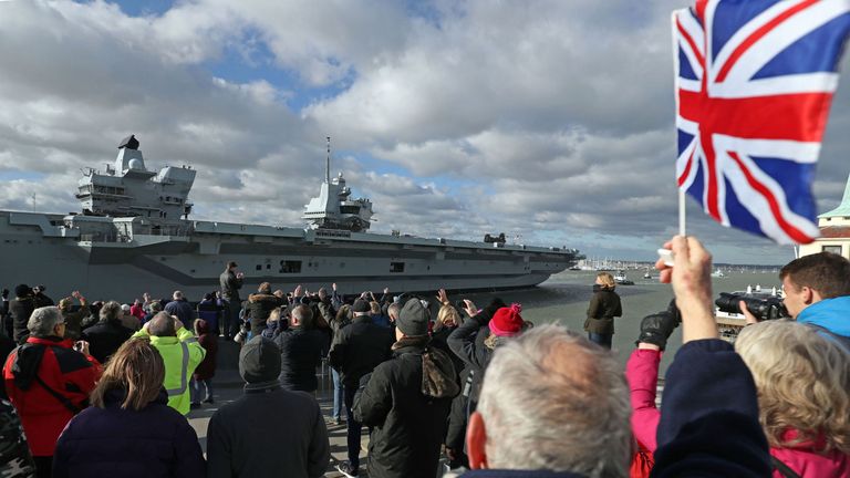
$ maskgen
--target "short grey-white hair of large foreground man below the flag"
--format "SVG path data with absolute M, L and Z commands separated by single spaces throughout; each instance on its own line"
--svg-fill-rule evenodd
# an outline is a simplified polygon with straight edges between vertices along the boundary
M 558 325 L 494 352 L 478 402 L 490 468 L 626 477 L 629 388 L 610 352 Z

